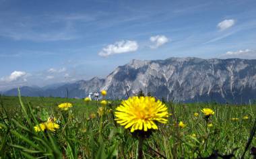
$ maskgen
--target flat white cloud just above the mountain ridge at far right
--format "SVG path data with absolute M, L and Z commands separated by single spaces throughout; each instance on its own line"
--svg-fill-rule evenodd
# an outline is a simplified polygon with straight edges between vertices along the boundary
M 237 50 L 237 51 L 228 51 L 225 54 L 222 54 L 222 58 L 256 58 L 256 50 Z

